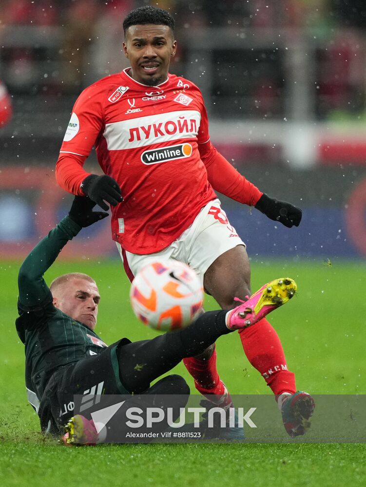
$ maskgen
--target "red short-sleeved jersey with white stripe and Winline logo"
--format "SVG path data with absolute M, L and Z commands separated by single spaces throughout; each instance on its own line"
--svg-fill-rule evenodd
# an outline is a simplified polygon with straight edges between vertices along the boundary
M 123 202 L 112 207 L 112 237 L 137 254 L 158 252 L 216 197 L 198 146 L 209 142 L 201 92 L 169 75 L 156 87 L 128 74 L 105 77 L 78 97 L 62 155 L 88 156 L 116 179 Z

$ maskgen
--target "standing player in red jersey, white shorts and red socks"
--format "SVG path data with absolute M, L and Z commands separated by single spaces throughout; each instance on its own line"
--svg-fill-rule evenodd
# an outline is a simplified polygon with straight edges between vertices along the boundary
M 173 17 L 160 8 L 139 7 L 123 29 L 131 67 L 78 97 L 56 166 L 58 184 L 88 195 L 103 209 L 111 205 L 112 238 L 131 281 L 148 258 L 164 255 L 193 267 L 205 290 L 231 309 L 234 297 L 250 296 L 250 264 L 215 190 L 287 227 L 300 224 L 302 211 L 262 193 L 212 146 L 199 89 L 169 74 L 177 46 Z M 103 176 L 83 169 L 94 145 Z M 285 426 L 287 419 L 291 423 L 289 434 L 303 434 L 304 426 L 289 419 L 290 413 L 313 408 L 312 398 L 296 393 L 276 332 L 263 318 L 239 336 L 250 363 L 275 394 Z M 214 345 L 184 364 L 200 393 L 230 404 Z

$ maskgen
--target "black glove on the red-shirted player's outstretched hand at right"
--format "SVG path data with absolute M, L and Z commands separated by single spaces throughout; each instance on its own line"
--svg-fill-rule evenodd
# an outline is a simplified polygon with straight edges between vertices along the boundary
M 292 225 L 299 226 L 303 215 L 303 211 L 297 206 L 293 206 L 287 201 L 270 198 L 266 193 L 262 194 L 254 208 L 288 228 L 291 228 Z

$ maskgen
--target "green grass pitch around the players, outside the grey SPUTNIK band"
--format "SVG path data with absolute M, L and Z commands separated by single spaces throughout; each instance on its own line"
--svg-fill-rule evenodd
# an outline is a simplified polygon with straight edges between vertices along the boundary
M 101 445 L 44 441 L 24 388 L 24 352 L 15 331 L 19 262 L 2 262 L 0 485 L 2 486 L 343 486 L 365 485 L 364 444 Z M 46 275 L 86 272 L 102 296 L 97 332 L 107 343 L 154 337 L 134 318 L 118 260 L 60 262 Z M 364 262 L 252 262 L 252 290 L 277 277 L 297 281 L 294 300 L 270 316 L 299 389 L 365 394 Z M 206 309 L 215 309 L 206 299 Z M 251 368 L 236 333 L 217 342 L 218 370 L 233 394 L 271 393 Z M 190 385 L 182 365 L 174 369 Z M 276 407 L 273 404 L 273 407 Z M 365 432 L 366 433 L 366 432 Z

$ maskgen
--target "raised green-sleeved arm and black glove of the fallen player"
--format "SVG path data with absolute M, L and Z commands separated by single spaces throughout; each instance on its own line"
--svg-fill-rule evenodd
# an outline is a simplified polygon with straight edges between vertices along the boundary
M 61 249 L 72 240 L 82 227 L 108 216 L 102 211 L 93 211 L 96 204 L 86 196 L 76 196 L 69 215 L 44 237 L 21 264 L 18 275 L 19 302 L 26 307 L 36 306 L 45 300 L 49 288 L 43 274 L 55 262 Z

